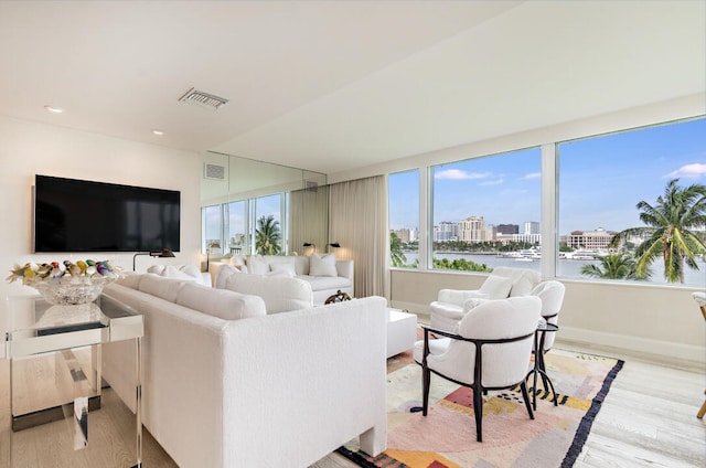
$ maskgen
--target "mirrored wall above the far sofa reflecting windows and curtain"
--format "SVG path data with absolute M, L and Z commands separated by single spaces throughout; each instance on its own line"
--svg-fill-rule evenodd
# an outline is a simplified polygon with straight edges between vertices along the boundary
M 271 216 L 281 254 L 309 255 L 302 244 L 328 243 L 325 174 L 206 152 L 201 185 L 201 253 L 211 260 L 258 252 L 257 230 Z M 271 224 L 270 223 L 270 224 Z M 208 248 L 212 245 L 221 247 Z M 260 246 L 260 249 L 263 247 Z

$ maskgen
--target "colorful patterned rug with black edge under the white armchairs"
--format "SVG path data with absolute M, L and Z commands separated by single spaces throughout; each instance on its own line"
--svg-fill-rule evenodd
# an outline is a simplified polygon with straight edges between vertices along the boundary
M 391 358 L 387 450 L 368 457 L 351 442 L 338 453 L 362 467 L 570 467 L 623 362 L 557 349 L 545 360 L 559 405 L 554 406 L 538 385 L 532 421 L 518 387 L 489 392 L 483 400 L 483 442 L 478 443 L 470 389 L 432 375 L 428 416 L 413 413 L 421 406 L 421 368 L 410 352 Z

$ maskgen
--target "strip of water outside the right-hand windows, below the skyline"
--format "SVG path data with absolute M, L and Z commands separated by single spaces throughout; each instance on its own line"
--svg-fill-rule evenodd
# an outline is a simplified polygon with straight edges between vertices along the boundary
M 418 254 L 416 252 L 405 252 L 405 256 L 407 257 L 407 264 L 413 263 L 417 259 Z M 495 268 L 498 266 L 507 266 L 513 268 L 527 268 L 534 269 L 536 272 L 542 272 L 541 259 L 531 259 L 531 260 L 517 260 L 512 257 L 502 257 L 496 256 L 495 254 L 488 255 L 479 255 L 479 254 L 458 254 L 458 253 L 448 253 L 448 252 L 435 252 L 435 258 L 448 258 L 449 260 L 454 260 L 457 258 L 463 258 L 466 260 L 474 262 L 477 264 L 485 264 L 490 268 Z M 571 279 L 589 279 L 588 276 L 581 275 L 581 268 L 586 264 L 600 265 L 600 260 L 575 260 L 575 259 L 566 259 L 560 258 L 557 266 L 557 277 L 559 278 L 571 278 Z M 698 262 L 698 270 L 691 269 L 686 267 L 685 276 L 685 286 L 694 286 L 704 288 L 706 286 L 706 262 Z M 638 283 L 638 281 L 635 281 Z M 642 281 L 639 281 L 642 283 Z M 666 283 L 664 279 L 664 265 L 655 262 L 652 264 L 652 277 L 645 281 L 651 284 L 661 284 L 661 285 L 678 285 Z

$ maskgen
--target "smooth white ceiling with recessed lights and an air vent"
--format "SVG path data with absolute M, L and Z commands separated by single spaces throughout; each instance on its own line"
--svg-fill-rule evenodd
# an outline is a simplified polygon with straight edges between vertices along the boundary
M 705 3 L 0 1 L 0 114 L 332 173 L 704 93 Z

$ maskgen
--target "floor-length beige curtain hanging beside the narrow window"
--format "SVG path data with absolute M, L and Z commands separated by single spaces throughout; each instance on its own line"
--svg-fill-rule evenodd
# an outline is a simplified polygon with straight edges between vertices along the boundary
M 384 176 L 329 185 L 329 240 L 336 257 L 355 263 L 355 297 L 388 298 L 387 179 Z

